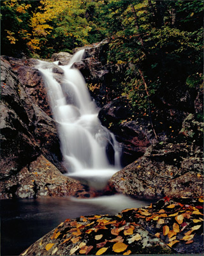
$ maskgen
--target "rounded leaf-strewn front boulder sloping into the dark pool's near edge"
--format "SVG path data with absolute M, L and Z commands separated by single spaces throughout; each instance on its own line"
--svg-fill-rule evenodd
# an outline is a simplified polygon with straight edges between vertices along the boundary
M 131 230 L 131 232 L 129 232 Z M 124 236 L 124 232 L 127 232 Z M 103 250 L 103 251 L 102 251 Z M 134 222 L 118 216 L 81 216 L 62 222 L 32 244 L 27 255 L 115 255 L 118 253 L 167 253 L 171 249 L 161 239 Z M 21 253 L 21 255 L 24 255 Z

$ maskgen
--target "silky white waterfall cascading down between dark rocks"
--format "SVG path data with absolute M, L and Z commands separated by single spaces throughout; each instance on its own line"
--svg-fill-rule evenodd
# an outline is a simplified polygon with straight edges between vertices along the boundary
M 39 61 L 53 116 L 58 124 L 61 151 L 67 175 L 89 186 L 102 189 L 113 173 L 120 170 L 120 148 L 114 135 L 101 125 L 98 109 L 91 100 L 84 77 L 73 63 L 83 59 L 84 50 L 76 52 L 64 70 L 64 79 L 58 83 L 52 72 L 59 61 Z M 114 166 L 106 156 L 110 143 L 114 150 Z

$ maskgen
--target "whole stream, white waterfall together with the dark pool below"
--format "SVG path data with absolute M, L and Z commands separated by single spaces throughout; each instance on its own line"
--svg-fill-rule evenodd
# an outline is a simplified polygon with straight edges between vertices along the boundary
M 39 61 L 48 98 L 61 140 L 64 166 L 69 177 L 96 189 L 103 189 L 115 172 L 121 169 L 120 146 L 115 136 L 98 119 L 96 104 L 91 99 L 84 77 L 73 63 L 83 59 L 78 51 L 68 65 Z M 59 83 L 53 67 L 61 68 Z M 106 154 L 112 147 L 113 156 Z M 18 255 L 43 235 L 68 218 L 92 214 L 117 214 L 122 209 L 143 207 L 150 202 L 133 200 L 124 195 L 91 199 L 37 198 L 1 200 L 1 255 Z

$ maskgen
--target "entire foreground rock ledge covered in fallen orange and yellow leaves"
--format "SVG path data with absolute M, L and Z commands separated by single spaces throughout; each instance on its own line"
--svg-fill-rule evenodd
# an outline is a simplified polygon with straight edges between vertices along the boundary
M 201 254 L 202 209 L 203 196 L 166 197 L 113 216 L 67 219 L 20 255 Z

